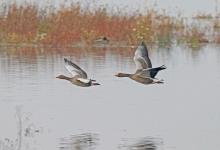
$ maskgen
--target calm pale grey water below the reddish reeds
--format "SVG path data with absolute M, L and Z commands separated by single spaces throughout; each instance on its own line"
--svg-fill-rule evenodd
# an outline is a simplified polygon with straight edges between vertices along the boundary
M 133 51 L 8 49 L 0 49 L 2 150 L 220 149 L 219 48 L 152 49 L 153 66 L 168 68 L 158 74 L 162 85 L 113 76 L 134 72 Z M 68 75 L 65 57 L 102 85 L 56 79 Z

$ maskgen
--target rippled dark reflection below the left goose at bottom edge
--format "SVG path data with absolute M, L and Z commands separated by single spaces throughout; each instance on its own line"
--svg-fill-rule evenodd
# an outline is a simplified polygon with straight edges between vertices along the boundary
M 98 140 L 98 135 L 94 133 L 73 135 L 60 140 L 60 150 L 93 150 Z

